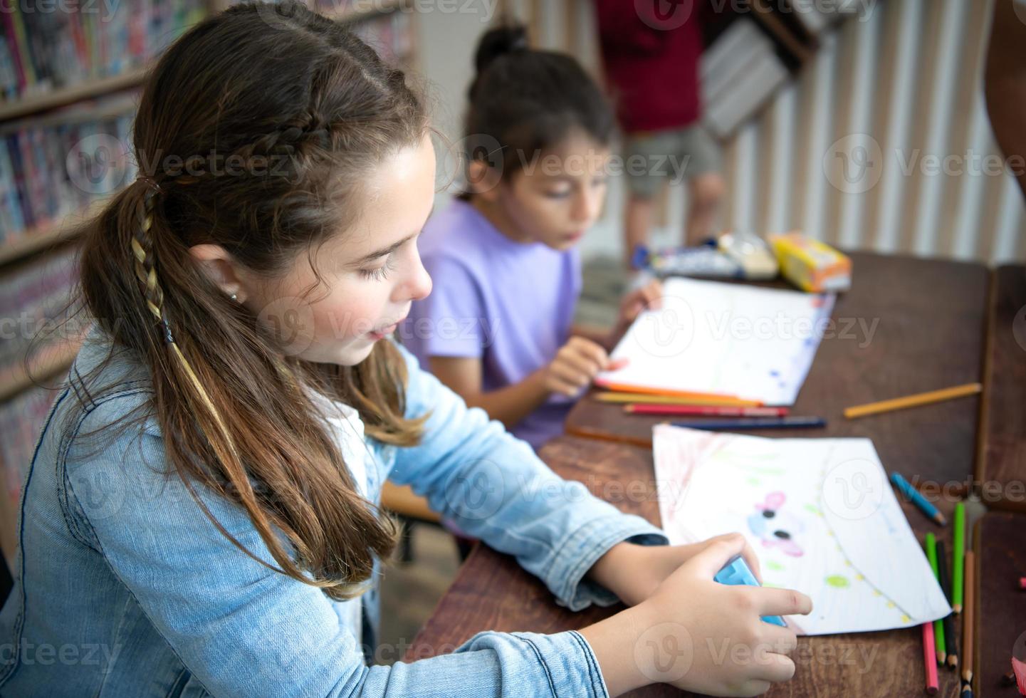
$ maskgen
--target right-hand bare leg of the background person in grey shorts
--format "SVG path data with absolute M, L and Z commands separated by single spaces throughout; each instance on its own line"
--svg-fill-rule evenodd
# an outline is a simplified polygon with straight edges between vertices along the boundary
M 681 157 L 688 180 L 684 244 L 704 242 L 715 231 L 716 214 L 726 190 L 720 176 L 719 147 L 701 125 L 689 126 L 680 134 Z

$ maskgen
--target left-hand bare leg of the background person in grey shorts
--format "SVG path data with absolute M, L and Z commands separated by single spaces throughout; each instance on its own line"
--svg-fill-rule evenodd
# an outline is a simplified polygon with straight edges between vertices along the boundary
M 631 133 L 624 141 L 627 205 L 624 211 L 624 263 L 633 268 L 634 248 L 648 243 L 656 194 L 666 180 L 669 146 L 662 133 Z

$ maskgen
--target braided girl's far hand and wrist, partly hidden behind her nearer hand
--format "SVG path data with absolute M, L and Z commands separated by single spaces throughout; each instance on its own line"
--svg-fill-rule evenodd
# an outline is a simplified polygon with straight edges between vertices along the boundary
M 627 606 L 635 606 L 648 598 L 677 568 L 710 545 L 731 539 L 739 534 L 715 536 L 688 545 L 634 545 L 618 543 L 592 567 L 589 576 L 613 591 Z M 755 579 L 762 582 L 759 559 L 755 551 L 744 543 L 742 556 Z

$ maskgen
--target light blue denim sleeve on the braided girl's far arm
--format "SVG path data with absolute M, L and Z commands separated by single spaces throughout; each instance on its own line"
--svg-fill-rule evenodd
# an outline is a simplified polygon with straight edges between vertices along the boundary
M 525 442 L 489 421 L 399 347 L 409 381 L 407 417 L 431 412 L 421 443 L 399 449 L 389 477 L 496 550 L 515 555 L 561 606 L 580 611 L 617 597 L 585 574 L 617 543 L 665 545 L 658 528 L 564 480 Z

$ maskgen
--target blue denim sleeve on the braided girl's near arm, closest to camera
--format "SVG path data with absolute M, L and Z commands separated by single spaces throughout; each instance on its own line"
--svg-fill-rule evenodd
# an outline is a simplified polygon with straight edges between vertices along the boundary
M 115 417 L 100 404 L 79 432 Z M 607 692 L 584 638 L 486 632 L 448 652 L 366 666 L 356 638 L 319 589 L 260 565 L 200 511 L 163 440 L 149 432 L 100 449 L 78 439 L 63 459 L 63 512 L 102 554 L 185 666 L 216 696 L 595 696 Z M 273 558 L 242 509 L 197 486 L 218 521 L 261 559 Z M 56 622 L 57 619 L 54 619 Z

